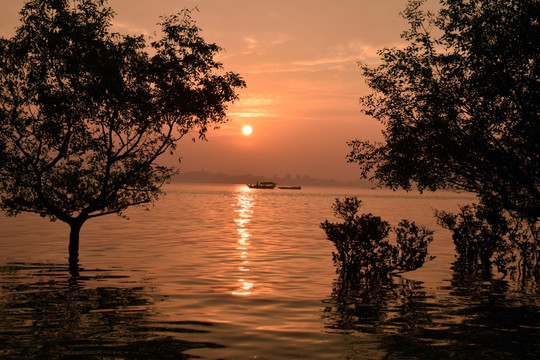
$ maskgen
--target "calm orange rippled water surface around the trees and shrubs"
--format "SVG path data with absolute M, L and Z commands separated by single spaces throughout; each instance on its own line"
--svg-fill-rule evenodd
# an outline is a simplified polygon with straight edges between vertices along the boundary
M 336 197 L 435 232 L 436 259 L 377 291 L 345 294 L 319 223 Z M 81 278 L 67 225 L 0 217 L 0 358 L 538 358 L 535 295 L 452 269 L 433 209 L 470 196 L 250 190 L 174 184 L 129 220 L 90 220 Z

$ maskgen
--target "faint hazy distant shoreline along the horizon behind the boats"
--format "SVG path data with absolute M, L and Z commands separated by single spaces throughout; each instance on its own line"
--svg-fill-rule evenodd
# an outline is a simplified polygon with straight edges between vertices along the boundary
M 374 185 L 368 180 L 358 179 L 354 181 L 338 181 L 335 179 L 317 179 L 307 175 L 296 175 L 279 177 L 274 175 L 255 176 L 246 175 L 228 175 L 221 172 L 208 171 L 182 171 L 174 176 L 172 182 L 194 182 L 194 183 L 216 183 L 216 184 L 250 184 L 257 181 L 273 181 L 279 185 L 301 185 L 301 186 L 344 186 L 373 188 Z

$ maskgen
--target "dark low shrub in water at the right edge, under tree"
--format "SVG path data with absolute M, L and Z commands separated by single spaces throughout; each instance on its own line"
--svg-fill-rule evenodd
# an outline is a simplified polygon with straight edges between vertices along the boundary
M 452 231 L 457 264 L 467 271 L 518 270 L 522 279 L 540 279 L 540 229 L 534 217 L 515 216 L 497 202 L 460 207 L 458 214 L 436 212 L 437 221 Z

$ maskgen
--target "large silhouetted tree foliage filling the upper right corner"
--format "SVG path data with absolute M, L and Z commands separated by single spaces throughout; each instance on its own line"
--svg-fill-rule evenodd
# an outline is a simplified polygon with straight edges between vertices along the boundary
M 540 217 L 540 1 L 410 0 L 404 48 L 362 64 L 363 111 L 384 141 L 351 141 L 350 162 L 381 185 L 457 188 Z

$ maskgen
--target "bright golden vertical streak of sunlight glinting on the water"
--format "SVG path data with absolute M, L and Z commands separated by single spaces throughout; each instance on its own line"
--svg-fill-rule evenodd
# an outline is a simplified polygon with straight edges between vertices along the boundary
M 239 239 L 237 242 L 236 250 L 240 254 L 239 259 L 239 279 L 238 279 L 238 288 L 233 291 L 233 295 L 251 295 L 251 289 L 253 288 L 253 282 L 249 280 L 249 246 L 251 243 L 249 239 L 251 238 L 251 233 L 249 232 L 248 225 L 251 222 L 253 216 L 253 205 L 255 201 L 251 190 L 247 187 L 238 188 L 238 194 L 236 196 L 236 206 L 238 207 L 235 212 L 237 213 L 237 218 L 234 219 L 234 222 L 237 225 L 236 231 L 238 232 Z

